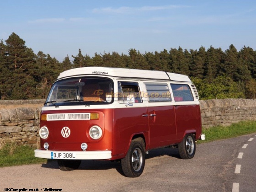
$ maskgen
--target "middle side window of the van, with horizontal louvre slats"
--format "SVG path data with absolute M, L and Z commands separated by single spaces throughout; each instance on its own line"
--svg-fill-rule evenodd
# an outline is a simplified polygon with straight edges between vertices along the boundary
M 149 102 L 171 101 L 171 93 L 166 83 L 145 83 Z

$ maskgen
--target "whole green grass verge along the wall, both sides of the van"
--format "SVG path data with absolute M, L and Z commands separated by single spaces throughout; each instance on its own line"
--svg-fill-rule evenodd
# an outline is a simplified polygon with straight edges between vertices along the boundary
M 205 134 L 205 140 L 198 140 L 198 143 L 256 133 L 256 121 L 243 121 L 234 123 L 228 127 L 216 126 L 207 129 L 203 128 L 202 133 Z M 34 149 L 27 145 L 19 146 L 16 143 L 5 143 L 1 145 L 0 167 L 46 162 L 46 159 L 34 157 Z

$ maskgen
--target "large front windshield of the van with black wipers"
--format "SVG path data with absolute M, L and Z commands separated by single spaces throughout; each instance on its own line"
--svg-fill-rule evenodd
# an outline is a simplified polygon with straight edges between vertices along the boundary
M 80 77 L 53 84 L 45 106 L 109 104 L 113 82 L 107 78 Z

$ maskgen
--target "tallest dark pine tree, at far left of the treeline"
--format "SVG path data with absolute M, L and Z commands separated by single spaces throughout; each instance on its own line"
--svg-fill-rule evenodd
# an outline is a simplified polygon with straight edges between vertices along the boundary
M 34 80 L 36 55 L 27 48 L 25 41 L 14 32 L 5 40 L 6 62 L 12 75 L 12 89 L 9 99 L 35 98 L 36 82 Z

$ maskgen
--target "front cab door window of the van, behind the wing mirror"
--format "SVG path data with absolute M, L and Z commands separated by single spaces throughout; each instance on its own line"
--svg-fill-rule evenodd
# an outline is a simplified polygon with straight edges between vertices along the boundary
M 126 103 L 128 100 L 133 100 L 135 103 L 142 103 L 139 84 L 137 82 L 118 82 L 118 102 Z

